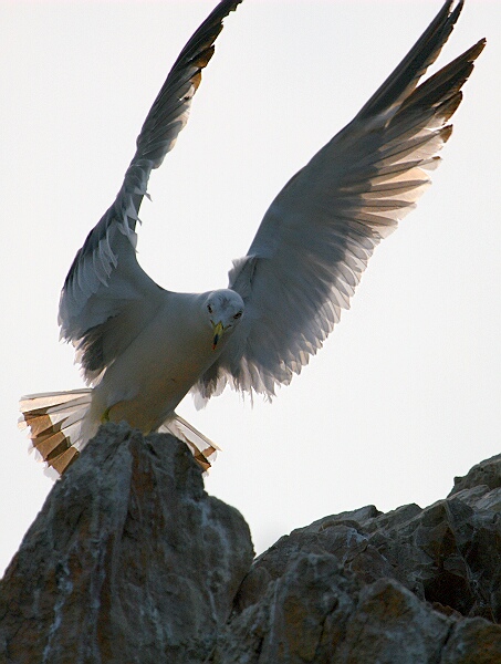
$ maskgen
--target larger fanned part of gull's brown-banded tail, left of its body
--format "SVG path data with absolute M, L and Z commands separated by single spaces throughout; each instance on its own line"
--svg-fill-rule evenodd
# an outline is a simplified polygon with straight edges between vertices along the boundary
M 29 429 L 31 443 L 44 461 L 60 475 L 86 443 L 82 422 L 91 405 L 92 390 L 51 392 L 24 396 L 20 402 L 21 429 Z

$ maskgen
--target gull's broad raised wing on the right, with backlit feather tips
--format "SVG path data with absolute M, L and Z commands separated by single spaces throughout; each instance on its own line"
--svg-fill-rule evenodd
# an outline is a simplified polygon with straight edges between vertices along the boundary
M 307 364 L 340 320 L 376 245 L 414 207 L 451 134 L 448 121 L 484 41 L 418 86 L 462 8 L 448 0 L 356 117 L 300 170 L 267 211 L 230 288 L 244 317 L 202 400 L 227 381 L 268 397 Z

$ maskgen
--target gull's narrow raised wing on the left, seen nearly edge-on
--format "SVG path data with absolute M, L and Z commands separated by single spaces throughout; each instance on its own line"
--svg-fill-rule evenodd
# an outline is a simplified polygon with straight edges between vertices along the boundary
M 67 273 L 59 310 L 61 336 L 76 346 L 87 382 L 127 347 L 159 307 L 161 289 L 136 260 L 139 207 L 149 174 L 188 121 L 222 20 L 241 1 L 222 0 L 182 49 L 146 117 L 114 204 L 88 234 Z

